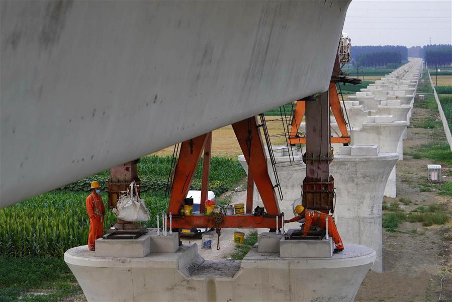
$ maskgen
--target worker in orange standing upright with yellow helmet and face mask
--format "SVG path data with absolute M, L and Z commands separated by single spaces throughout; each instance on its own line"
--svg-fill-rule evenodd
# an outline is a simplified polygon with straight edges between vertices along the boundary
M 105 206 L 101 196 L 101 185 L 97 181 L 91 183 L 91 194 L 86 197 L 86 211 L 89 216 L 88 249 L 96 251 L 96 239 L 104 235 Z

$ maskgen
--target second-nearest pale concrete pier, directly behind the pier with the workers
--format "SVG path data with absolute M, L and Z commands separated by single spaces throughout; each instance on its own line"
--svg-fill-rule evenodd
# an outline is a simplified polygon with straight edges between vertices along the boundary
M 331 175 L 336 188 L 334 217 L 339 234 L 345 243 L 365 245 L 376 251 L 377 260 L 372 266 L 376 272 L 382 271 L 382 204 L 385 187 L 399 155 L 385 153 L 377 145 L 352 145 L 335 149 L 338 153 L 330 164 Z M 239 161 L 241 157 L 239 156 Z M 269 165 L 269 159 L 267 159 Z M 246 167 L 242 159 L 241 164 Z M 283 194 L 294 197 L 280 201 L 280 208 L 290 218 L 294 215 L 292 203 L 301 196 L 301 187 L 293 180 L 304 177 L 306 166 L 285 167 L 291 173 L 280 173 Z M 284 170 L 280 168 L 280 170 Z M 271 167 L 269 168 L 271 170 Z M 245 169 L 247 171 L 247 169 Z M 270 173 L 270 172 L 269 172 Z M 273 173 L 273 172 L 271 172 Z M 292 184 L 292 185 L 290 185 Z M 394 187 L 395 189 L 395 187 Z M 258 193 L 257 193 L 258 195 Z M 259 202 L 260 198 L 257 199 Z M 287 224 L 295 228 L 298 222 Z

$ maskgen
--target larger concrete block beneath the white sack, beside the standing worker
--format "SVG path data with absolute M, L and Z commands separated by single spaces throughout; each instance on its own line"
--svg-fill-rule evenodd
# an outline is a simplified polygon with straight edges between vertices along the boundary
M 96 257 L 144 257 L 151 252 L 151 235 L 137 239 L 96 240 Z

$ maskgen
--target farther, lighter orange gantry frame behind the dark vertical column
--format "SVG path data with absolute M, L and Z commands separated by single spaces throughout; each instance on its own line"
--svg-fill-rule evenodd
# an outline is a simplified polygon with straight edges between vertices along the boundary
M 341 134 L 340 137 L 331 136 L 331 143 L 350 143 L 350 136 L 348 135 L 347 124 L 345 122 L 342 110 L 340 108 L 339 95 L 337 94 L 335 83 L 332 82 L 330 83 L 328 94 L 330 101 L 330 109 L 336 119 Z M 306 111 L 306 101 L 298 100 L 297 104 L 295 105 L 294 117 L 291 123 L 291 130 L 289 133 L 289 137 L 287 139 L 287 142 L 289 144 L 306 143 L 306 137 L 298 135 L 298 128 L 300 127 L 300 123 L 303 119 L 305 111 Z

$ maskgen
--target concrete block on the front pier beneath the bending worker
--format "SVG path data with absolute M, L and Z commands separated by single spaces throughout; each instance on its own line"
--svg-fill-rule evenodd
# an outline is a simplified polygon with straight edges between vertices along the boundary
M 280 241 L 281 258 L 331 258 L 334 243 L 330 238 L 323 240 L 286 240 Z

